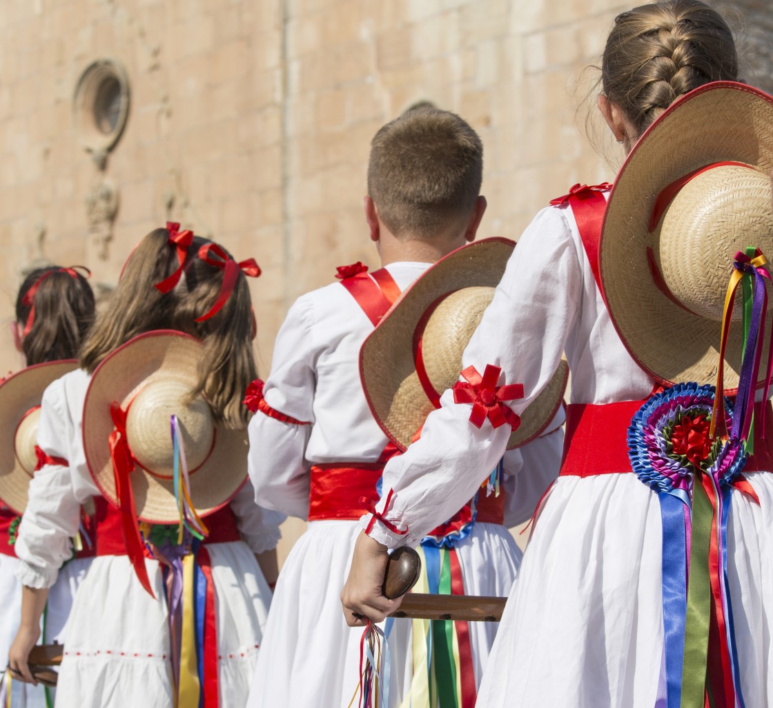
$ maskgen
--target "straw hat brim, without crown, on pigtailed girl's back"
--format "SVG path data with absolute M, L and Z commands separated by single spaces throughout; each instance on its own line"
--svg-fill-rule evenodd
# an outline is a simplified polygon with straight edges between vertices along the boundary
M 148 380 L 175 378 L 192 389 L 202 348 L 199 340 L 182 332 L 147 332 L 118 347 L 94 370 L 83 404 L 83 450 L 91 476 L 114 506 L 118 502 L 108 442 L 114 429 L 111 403 L 117 401 L 125 410 Z M 247 481 L 247 449 L 246 430 L 216 426 L 212 451 L 190 476 L 191 500 L 200 515 L 225 506 Z M 138 463 L 129 479 L 139 520 L 179 520 L 172 479 L 154 476 Z

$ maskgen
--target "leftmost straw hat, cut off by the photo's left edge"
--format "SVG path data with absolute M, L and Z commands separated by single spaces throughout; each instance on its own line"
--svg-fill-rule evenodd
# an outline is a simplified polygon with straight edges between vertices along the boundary
M 21 515 L 35 473 L 40 400 L 48 385 L 78 368 L 74 359 L 34 364 L 0 383 L 0 500 Z

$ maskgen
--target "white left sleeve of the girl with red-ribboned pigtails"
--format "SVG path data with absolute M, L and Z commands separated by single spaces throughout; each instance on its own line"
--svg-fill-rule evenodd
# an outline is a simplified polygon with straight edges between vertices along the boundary
M 60 379 L 43 394 L 37 444 L 49 457 L 66 460 L 74 434 Z M 56 582 L 60 567 L 72 556 L 71 539 L 79 526 L 80 502 L 73 490 L 70 468 L 43 466 L 29 483 L 29 500 L 15 544 L 21 561 L 16 577 L 22 585 L 50 588 Z

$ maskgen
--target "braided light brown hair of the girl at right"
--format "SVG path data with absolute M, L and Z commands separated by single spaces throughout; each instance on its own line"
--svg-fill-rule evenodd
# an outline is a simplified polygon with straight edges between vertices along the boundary
M 601 59 L 601 86 L 642 134 L 683 94 L 737 81 L 733 34 L 700 0 L 663 0 L 615 18 Z

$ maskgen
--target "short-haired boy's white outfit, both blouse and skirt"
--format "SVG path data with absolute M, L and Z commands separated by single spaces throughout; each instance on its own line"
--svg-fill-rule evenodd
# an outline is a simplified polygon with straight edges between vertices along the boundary
M 427 266 L 393 263 L 386 268 L 404 290 Z M 369 412 L 358 364 L 359 348 L 372 331 L 373 324 L 340 283 L 308 293 L 291 307 L 274 345 L 264 396 L 278 412 L 311 425 L 261 414 L 250 422 L 250 477 L 261 505 L 305 518 L 312 464 L 379 458 L 387 440 Z M 551 430 L 561 422 L 563 411 Z M 562 439 L 562 432 L 553 432 L 533 443 L 531 452 L 508 453 L 506 488 L 516 493 L 507 500 L 509 518 L 530 516 L 557 474 Z M 518 483 L 529 466 L 538 470 L 532 486 Z M 346 625 L 339 594 L 358 534 L 356 521 L 313 521 L 292 548 L 274 592 L 250 708 L 349 705 L 358 683 L 362 630 Z M 465 587 L 487 595 L 506 593 L 519 557 L 504 527 L 478 524 L 459 550 Z M 473 628 L 477 679 L 494 632 L 495 625 Z M 390 703 L 397 706 L 411 676 L 410 622 L 398 622 L 390 644 L 395 684 Z

